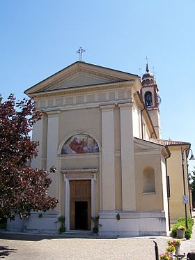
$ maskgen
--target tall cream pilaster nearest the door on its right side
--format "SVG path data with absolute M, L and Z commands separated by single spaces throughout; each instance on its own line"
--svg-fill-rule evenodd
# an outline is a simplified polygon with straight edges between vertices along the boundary
M 102 109 L 102 210 L 115 209 L 114 105 Z

